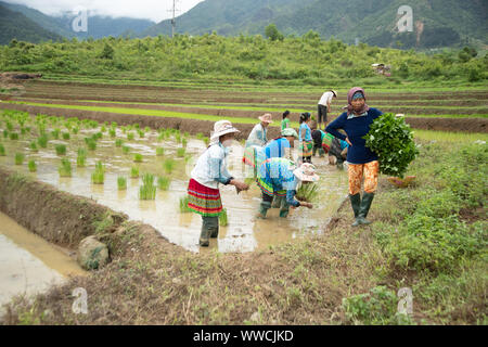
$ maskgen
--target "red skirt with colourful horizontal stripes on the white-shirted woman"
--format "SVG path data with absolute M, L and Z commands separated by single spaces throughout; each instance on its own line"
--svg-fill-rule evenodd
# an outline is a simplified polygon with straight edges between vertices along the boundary
M 222 210 L 220 191 L 200 184 L 194 179 L 188 184 L 188 207 L 204 217 L 217 217 Z

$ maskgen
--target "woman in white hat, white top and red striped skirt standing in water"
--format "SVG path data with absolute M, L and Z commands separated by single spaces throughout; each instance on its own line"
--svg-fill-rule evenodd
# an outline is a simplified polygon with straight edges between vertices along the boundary
M 246 183 L 234 179 L 227 170 L 229 146 L 240 132 L 229 120 L 219 120 L 214 125 L 210 145 L 198 157 L 191 172 L 188 185 L 188 207 L 202 216 L 200 245 L 208 246 L 209 237 L 219 233 L 219 215 L 222 210 L 219 183 L 231 184 L 237 193 L 249 189 Z

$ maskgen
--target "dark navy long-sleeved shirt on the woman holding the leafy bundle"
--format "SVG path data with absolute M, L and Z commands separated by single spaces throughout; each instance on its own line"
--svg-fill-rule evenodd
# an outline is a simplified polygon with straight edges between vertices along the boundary
M 347 133 L 347 138 L 352 143 L 347 152 L 348 163 L 365 164 L 377 160 L 377 155 L 365 146 L 365 140 L 362 137 L 370 131 L 371 124 L 382 114 L 376 108 L 370 108 L 360 116 L 347 115 L 347 112 L 345 112 L 325 128 L 326 132 L 341 140 L 346 140 L 346 136 L 337 130 L 343 129 Z

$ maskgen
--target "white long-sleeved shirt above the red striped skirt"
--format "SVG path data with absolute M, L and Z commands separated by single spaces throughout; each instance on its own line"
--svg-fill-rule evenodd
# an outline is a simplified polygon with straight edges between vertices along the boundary
M 191 178 L 211 189 L 218 189 L 219 183 L 229 184 L 232 176 L 227 169 L 226 147 L 220 142 L 210 145 L 198 157 Z

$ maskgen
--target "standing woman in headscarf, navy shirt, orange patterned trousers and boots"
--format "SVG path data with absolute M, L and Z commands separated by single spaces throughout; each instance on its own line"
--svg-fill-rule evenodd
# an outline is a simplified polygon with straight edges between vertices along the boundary
M 364 90 L 359 87 L 349 90 L 347 102 L 347 112 L 332 121 L 325 131 L 349 143 L 347 152 L 349 198 L 356 219 L 352 227 L 357 227 L 370 223 L 365 218 L 377 188 L 380 171 L 377 155 L 365 146 L 365 140 L 362 137 L 370 131 L 371 124 L 382 115 L 382 112 L 367 105 Z M 338 129 L 343 129 L 347 136 L 339 132 Z M 363 178 L 364 193 L 361 198 Z

